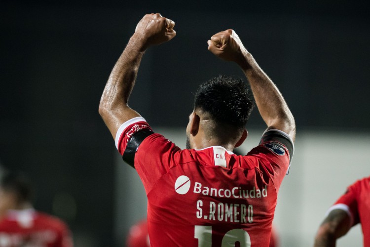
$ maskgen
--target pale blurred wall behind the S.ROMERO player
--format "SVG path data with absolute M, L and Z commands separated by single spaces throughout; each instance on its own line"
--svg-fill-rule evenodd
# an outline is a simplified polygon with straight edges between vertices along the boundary
M 185 128 L 154 128 L 179 147 L 185 147 Z M 247 152 L 259 143 L 263 129 L 249 129 L 241 146 Z M 357 179 L 370 175 L 370 133 L 343 131 L 297 132 L 289 175 L 279 192 L 274 226 L 281 247 L 312 247 L 327 209 Z M 118 155 L 117 155 L 118 156 Z M 118 156 L 119 157 L 119 156 Z M 146 195 L 135 170 L 117 158 L 116 239 L 124 241 L 129 226 L 146 216 Z M 337 247 L 362 246 L 358 225 Z

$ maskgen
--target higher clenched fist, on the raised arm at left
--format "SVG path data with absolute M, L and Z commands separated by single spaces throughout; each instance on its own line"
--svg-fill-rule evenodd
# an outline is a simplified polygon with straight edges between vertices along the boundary
M 144 48 L 148 48 L 150 45 L 160 44 L 174 38 L 176 35 L 174 26 L 175 22 L 159 13 L 146 14 L 136 26 L 135 35 L 138 35 L 144 42 Z

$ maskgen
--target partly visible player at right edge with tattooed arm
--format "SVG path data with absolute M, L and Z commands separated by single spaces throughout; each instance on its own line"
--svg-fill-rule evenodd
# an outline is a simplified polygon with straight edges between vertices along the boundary
M 364 247 L 370 247 L 370 176 L 356 181 L 347 188 L 320 225 L 315 247 L 334 247 L 336 240 L 361 223 Z

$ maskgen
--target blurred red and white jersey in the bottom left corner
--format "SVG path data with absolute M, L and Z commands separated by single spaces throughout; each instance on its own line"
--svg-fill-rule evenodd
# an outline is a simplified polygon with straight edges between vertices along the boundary
M 72 247 L 65 223 L 34 209 L 9 210 L 0 219 L 0 247 Z

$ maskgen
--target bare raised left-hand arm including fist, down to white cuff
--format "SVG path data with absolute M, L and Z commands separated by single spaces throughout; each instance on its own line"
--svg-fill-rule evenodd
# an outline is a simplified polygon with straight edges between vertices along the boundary
M 151 45 L 160 44 L 175 37 L 175 23 L 160 14 L 145 15 L 136 26 L 126 48 L 116 62 L 100 100 L 99 114 L 116 138 L 118 128 L 140 115 L 128 106 L 141 59 Z

